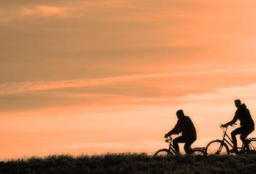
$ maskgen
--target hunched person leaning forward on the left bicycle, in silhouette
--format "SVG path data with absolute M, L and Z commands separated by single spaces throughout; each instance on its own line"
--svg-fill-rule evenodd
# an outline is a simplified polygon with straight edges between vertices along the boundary
M 164 137 L 167 138 L 172 134 L 182 133 L 182 136 L 178 136 L 174 139 L 174 149 L 176 153 L 179 153 L 178 143 L 185 143 L 184 150 L 187 154 L 191 154 L 193 153 L 193 151 L 191 150 L 191 144 L 196 141 L 195 126 L 193 125 L 191 119 L 188 116 L 184 115 L 183 110 L 178 110 L 176 112 L 176 115 L 178 117 L 176 126 L 174 126 L 174 129 L 169 131 L 169 133 L 167 133 Z

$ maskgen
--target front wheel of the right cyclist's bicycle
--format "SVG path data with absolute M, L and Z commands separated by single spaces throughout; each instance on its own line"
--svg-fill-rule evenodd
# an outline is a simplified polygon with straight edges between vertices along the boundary
M 207 155 L 228 155 L 229 149 L 227 144 L 220 140 L 210 141 L 206 146 L 206 154 Z

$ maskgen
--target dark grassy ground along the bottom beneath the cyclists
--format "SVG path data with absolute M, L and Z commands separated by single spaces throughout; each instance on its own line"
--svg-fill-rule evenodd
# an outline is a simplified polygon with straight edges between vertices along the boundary
M 48 156 L 0 162 L 0 173 L 256 173 L 256 155 L 173 156 L 146 154 Z

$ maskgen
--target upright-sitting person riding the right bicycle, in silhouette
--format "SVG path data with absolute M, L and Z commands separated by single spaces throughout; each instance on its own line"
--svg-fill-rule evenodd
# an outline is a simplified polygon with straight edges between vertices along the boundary
M 231 132 L 234 148 L 230 152 L 233 153 L 238 152 L 238 143 L 235 136 L 241 134 L 240 139 L 242 140 L 242 143 L 245 143 L 245 138 L 255 129 L 255 124 L 252 120 L 252 116 L 250 115 L 250 111 L 247 109 L 245 104 L 241 104 L 240 99 L 235 100 L 235 107 L 238 109 L 235 112 L 233 120 L 221 125 L 222 127 L 230 126 L 235 124 L 238 119 L 240 120 L 240 127 Z

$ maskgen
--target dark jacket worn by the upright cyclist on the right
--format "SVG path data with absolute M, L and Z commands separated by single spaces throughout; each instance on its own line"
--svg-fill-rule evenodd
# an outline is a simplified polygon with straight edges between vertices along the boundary
M 245 128 L 252 128 L 255 126 L 250 111 L 247 109 L 245 104 L 241 104 L 235 112 L 235 116 L 230 124 L 235 124 L 236 121 L 240 120 L 240 126 Z

